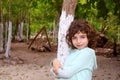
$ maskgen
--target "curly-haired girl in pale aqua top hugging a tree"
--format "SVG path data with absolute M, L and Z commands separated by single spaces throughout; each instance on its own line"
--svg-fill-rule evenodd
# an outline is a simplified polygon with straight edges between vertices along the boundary
M 97 68 L 95 51 L 88 47 L 91 27 L 88 22 L 74 20 L 68 29 L 66 40 L 71 48 L 63 65 L 53 60 L 51 73 L 58 80 L 92 80 L 92 72 Z

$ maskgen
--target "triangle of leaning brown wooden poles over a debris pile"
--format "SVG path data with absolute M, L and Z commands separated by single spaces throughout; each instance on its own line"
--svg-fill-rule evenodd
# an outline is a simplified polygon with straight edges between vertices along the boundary
M 41 34 L 44 31 L 46 38 L 44 37 L 44 39 L 42 39 L 43 34 Z M 38 37 L 38 35 L 41 34 L 41 37 L 39 38 L 40 40 L 36 40 L 36 38 Z M 30 48 L 33 44 L 33 42 L 37 41 L 37 44 L 34 44 L 35 46 L 32 47 L 32 50 L 37 50 L 40 52 L 44 52 L 44 51 L 51 51 L 51 44 L 50 44 L 50 40 L 48 38 L 48 34 L 47 34 L 47 30 L 46 27 L 43 27 L 38 34 L 34 37 L 34 39 L 32 40 L 32 42 L 30 43 L 30 45 L 28 46 L 28 48 Z M 36 43 L 36 42 L 35 42 Z

